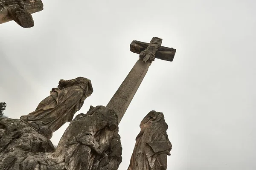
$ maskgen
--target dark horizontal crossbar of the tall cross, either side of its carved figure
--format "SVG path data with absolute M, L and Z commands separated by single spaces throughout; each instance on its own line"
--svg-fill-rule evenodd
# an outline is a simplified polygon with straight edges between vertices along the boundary
M 148 47 L 149 43 L 134 40 L 130 44 L 130 51 L 140 54 Z M 176 49 L 160 46 L 156 52 L 155 58 L 172 61 L 175 56 Z

